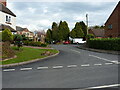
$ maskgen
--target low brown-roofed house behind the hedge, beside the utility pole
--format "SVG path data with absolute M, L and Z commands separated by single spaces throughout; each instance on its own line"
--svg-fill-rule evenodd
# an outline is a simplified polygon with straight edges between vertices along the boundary
M 96 38 L 103 38 L 104 37 L 104 29 L 101 28 L 90 28 L 88 29 L 89 34 L 93 34 Z

